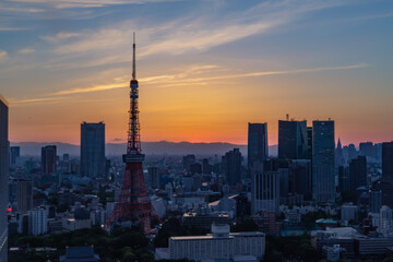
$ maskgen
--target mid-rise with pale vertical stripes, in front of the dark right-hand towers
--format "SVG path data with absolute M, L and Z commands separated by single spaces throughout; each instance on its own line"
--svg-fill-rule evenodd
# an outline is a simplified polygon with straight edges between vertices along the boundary
M 278 214 L 279 174 L 278 159 L 255 162 L 251 168 L 251 214 L 271 211 Z

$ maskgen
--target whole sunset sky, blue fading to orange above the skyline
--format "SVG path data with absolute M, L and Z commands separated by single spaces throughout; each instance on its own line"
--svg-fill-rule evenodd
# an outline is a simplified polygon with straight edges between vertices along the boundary
M 10 141 L 127 138 L 136 32 L 143 141 L 247 143 L 248 122 L 336 121 L 343 144 L 393 140 L 392 0 L 9 0 L 0 93 Z

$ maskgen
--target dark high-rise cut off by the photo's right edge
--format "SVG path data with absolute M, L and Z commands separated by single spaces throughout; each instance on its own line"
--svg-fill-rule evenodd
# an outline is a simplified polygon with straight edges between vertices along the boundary
M 393 141 L 382 143 L 382 204 L 393 207 Z

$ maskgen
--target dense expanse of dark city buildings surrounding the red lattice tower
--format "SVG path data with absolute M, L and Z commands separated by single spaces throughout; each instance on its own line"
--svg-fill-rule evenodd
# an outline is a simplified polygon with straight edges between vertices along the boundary
M 124 165 L 105 154 L 105 124 L 81 123 L 81 154 L 44 145 L 40 157 L 8 141 L 8 104 L 0 97 L 0 260 L 7 237 L 103 226 L 120 194 Z M 265 236 L 311 234 L 325 258 L 380 258 L 393 250 L 393 142 L 336 145 L 334 121 L 278 121 L 269 152 L 267 123 L 249 123 L 248 150 L 219 155 L 147 156 L 144 176 L 160 217 L 211 234 L 171 237 L 163 259 L 258 261 Z M 322 219 L 307 225 L 310 213 Z M 230 233 L 245 217 L 258 230 Z M 319 217 L 321 218 L 321 217 Z M 311 231 L 312 229 L 318 231 Z M 73 251 L 70 250 L 70 254 Z M 94 254 L 93 254 L 94 257 Z M 94 257 L 95 258 L 95 257 Z M 64 261 L 66 257 L 63 258 Z

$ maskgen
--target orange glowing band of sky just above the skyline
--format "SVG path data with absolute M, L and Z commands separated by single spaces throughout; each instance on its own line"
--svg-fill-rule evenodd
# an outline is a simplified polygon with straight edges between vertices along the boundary
M 267 122 L 269 143 L 274 145 L 277 144 L 277 121 L 286 114 L 298 120 L 307 119 L 308 126 L 315 119 L 332 118 L 336 122 L 336 140 L 341 138 L 343 144 L 392 140 L 393 123 L 381 119 L 380 108 L 362 107 L 369 99 L 366 94 L 352 102 L 350 107 L 357 110 L 349 110 L 347 97 L 353 96 L 352 90 L 338 84 L 332 87 L 337 81 L 334 78 L 329 83 L 323 81 L 331 78 L 331 72 L 315 76 L 240 74 L 234 79 L 231 74 L 214 71 L 216 68 L 219 67 L 170 69 L 180 72 L 175 76 L 142 75 L 142 141 L 247 144 L 248 122 Z M 104 121 L 107 143 L 126 141 L 129 87 L 128 81 L 118 81 L 117 75 L 123 75 L 122 71 L 86 75 L 83 84 L 90 86 L 86 88 L 75 85 L 36 100 L 10 100 L 10 141 L 79 144 L 83 121 Z M 123 79 L 129 78 L 128 72 L 124 75 Z M 90 79 L 99 84 L 92 87 Z M 111 83 L 108 79 L 117 81 Z M 357 87 L 361 87 L 361 83 Z M 389 96 L 379 103 L 389 104 Z M 358 115 L 362 115 L 362 119 L 356 118 Z M 364 124 L 364 119 L 368 119 L 369 124 Z

